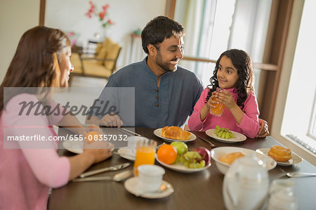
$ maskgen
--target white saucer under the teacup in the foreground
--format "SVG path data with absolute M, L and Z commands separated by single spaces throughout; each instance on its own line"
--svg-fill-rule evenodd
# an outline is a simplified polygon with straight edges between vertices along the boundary
M 124 188 L 127 191 L 131 192 L 131 194 L 133 194 L 133 195 L 138 194 L 137 180 L 138 180 L 138 177 L 132 177 L 124 182 Z M 170 185 L 170 184 L 166 181 L 162 181 L 162 185 Z M 171 195 L 173 192 L 174 192 L 174 190 L 173 190 L 173 187 L 171 185 L 171 188 L 164 190 L 163 192 L 144 192 L 139 196 L 145 197 L 145 198 L 152 198 L 152 199 L 153 198 L 162 198 L 162 197 L 167 197 L 167 196 Z

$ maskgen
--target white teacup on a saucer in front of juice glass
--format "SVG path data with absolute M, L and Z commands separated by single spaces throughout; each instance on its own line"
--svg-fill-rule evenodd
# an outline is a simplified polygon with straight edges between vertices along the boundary
M 138 190 L 140 192 L 155 192 L 162 185 L 164 169 L 156 165 L 138 166 Z

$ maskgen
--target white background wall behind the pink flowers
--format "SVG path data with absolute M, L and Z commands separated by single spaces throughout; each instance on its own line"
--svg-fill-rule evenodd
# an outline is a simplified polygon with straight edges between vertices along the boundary
M 89 0 L 46 0 L 45 25 L 56 27 L 62 31 L 79 33 L 78 44 L 86 46 L 88 39 L 102 32 L 98 18 L 87 18 L 84 14 L 90 8 Z M 109 37 L 121 44 L 122 51 L 117 61 L 117 67 L 129 63 L 131 32 L 143 29 L 146 23 L 158 15 L 164 15 L 166 0 L 107 0 L 93 1 L 100 8 L 110 4 L 109 18 L 115 22 L 110 29 Z

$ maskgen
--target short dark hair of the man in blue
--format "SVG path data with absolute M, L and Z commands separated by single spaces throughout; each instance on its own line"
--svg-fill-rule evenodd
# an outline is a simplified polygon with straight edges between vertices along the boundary
M 178 38 L 184 35 L 185 29 L 180 23 L 165 16 L 158 16 L 150 20 L 142 31 L 143 50 L 148 54 L 148 44 L 152 44 L 159 49 L 159 44 L 162 43 L 164 39 L 169 39 L 171 36 Z

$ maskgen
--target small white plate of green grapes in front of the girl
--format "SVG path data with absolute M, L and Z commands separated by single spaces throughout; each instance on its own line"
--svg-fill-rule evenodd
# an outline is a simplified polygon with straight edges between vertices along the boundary
M 209 129 L 205 133 L 207 136 L 225 143 L 237 143 L 247 139 L 242 133 L 220 128 L 219 126 L 216 126 L 216 129 Z

